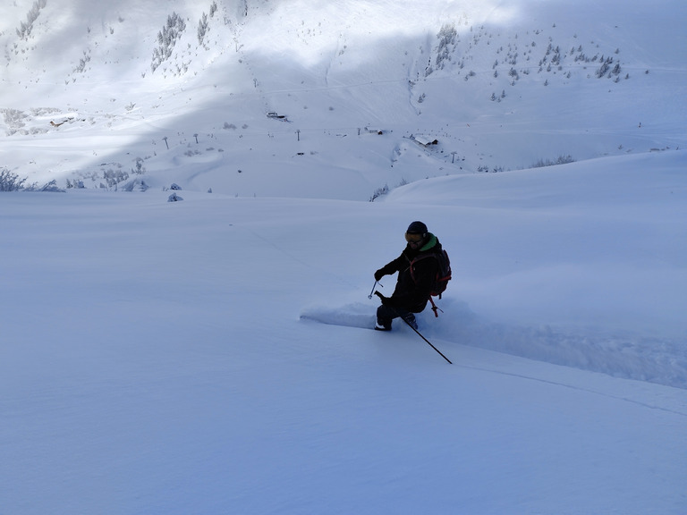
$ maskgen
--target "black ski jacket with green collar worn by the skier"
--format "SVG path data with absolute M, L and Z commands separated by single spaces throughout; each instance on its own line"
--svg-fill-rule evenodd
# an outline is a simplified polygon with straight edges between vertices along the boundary
M 439 264 L 435 258 L 418 258 L 431 256 L 441 252 L 441 250 L 441 243 L 434 234 L 429 232 L 427 243 L 420 249 L 411 249 L 410 244 L 406 245 L 401 256 L 377 270 L 383 275 L 398 272 L 394 293 L 384 301 L 384 304 L 394 308 L 403 308 L 413 313 L 420 313 L 427 306 Z M 411 272 L 413 260 L 415 262 L 412 264 Z

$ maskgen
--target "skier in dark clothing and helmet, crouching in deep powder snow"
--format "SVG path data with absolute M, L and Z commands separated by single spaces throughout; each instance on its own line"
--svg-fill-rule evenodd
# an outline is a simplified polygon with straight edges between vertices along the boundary
M 391 297 L 385 297 L 379 291 L 375 291 L 377 297 L 382 300 L 381 306 L 377 308 L 377 331 L 390 331 L 391 322 L 396 317 L 402 317 L 408 325 L 417 329 L 415 313 L 420 313 L 427 306 L 432 285 L 437 277 L 437 259 L 422 259 L 426 255 L 442 251 L 437 236 L 428 232 L 427 225 L 416 221 L 408 226 L 405 241 L 407 244 L 401 256 L 375 272 L 375 281 L 398 272 Z

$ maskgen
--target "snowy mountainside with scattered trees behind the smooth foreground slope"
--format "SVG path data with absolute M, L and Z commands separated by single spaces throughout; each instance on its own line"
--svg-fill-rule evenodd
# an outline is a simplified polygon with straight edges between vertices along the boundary
M 3 9 L 4 166 L 29 182 L 113 189 L 145 172 L 155 187 L 360 199 L 684 137 L 679 3 Z M 282 190 L 257 168 L 306 177 Z

